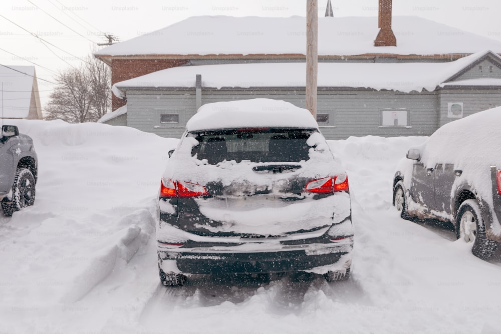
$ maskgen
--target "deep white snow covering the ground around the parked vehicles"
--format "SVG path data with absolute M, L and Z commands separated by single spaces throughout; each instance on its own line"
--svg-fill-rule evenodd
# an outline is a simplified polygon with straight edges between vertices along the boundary
M 330 142 L 350 178 L 353 275 L 195 276 L 159 284 L 154 208 L 177 139 L 102 124 L 15 121 L 40 161 L 35 205 L 0 214 L 0 333 L 499 333 L 501 251 L 402 220 L 391 180 L 412 138 Z M 501 248 L 501 247 L 500 247 Z

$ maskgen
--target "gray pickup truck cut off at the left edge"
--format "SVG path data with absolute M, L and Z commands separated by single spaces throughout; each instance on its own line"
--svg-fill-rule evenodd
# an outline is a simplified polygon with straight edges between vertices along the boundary
M 38 159 L 33 140 L 14 125 L 3 125 L 0 135 L 0 203 L 4 214 L 35 202 Z

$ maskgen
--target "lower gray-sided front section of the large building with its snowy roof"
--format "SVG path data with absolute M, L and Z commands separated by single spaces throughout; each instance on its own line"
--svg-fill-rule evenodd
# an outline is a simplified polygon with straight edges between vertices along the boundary
M 205 103 L 268 97 L 305 107 L 305 72 L 305 63 L 182 66 L 119 82 L 113 93 L 127 99 L 121 125 L 179 137 Z M 501 106 L 501 57 L 491 51 L 446 63 L 319 63 L 318 72 L 317 120 L 328 139 L 430 135 Z

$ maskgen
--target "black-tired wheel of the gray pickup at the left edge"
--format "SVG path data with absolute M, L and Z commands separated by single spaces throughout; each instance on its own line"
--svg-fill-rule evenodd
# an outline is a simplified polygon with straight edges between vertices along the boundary
M 18 168 L 12 186 L 12 200 L 2 202 L 7 217 L 35 203 L 35 177 L 28 168 Z

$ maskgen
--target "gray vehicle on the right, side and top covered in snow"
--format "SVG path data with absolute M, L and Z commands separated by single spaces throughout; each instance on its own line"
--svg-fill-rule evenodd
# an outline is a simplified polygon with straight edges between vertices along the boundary
M 472 253 L 489 258 L 501 242 L 501 107 L 450 122 L 411 148 L 393 180 L 405 219 L 454 225 Z

